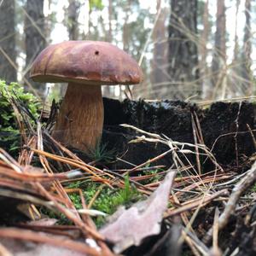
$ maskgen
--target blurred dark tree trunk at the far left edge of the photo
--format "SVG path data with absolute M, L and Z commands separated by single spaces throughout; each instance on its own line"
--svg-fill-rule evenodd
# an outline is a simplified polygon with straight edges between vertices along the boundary
M 15 0 L 2 1 L 0 6 L 0 79 L 17 80 L 15 49 Z

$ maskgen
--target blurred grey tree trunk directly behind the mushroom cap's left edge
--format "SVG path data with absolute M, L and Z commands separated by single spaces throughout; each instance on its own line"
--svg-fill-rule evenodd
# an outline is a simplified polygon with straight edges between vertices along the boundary
M 32 61 L 44 49 L 46 45 L 44 26 L 44 0 L 26 0 L 25 19 L 25 43 L 26 43 L 26 90 L 32 87 L 38 91 L 38 95 L 44 97 L 45 87 L 42 83 L 33 82 L 29 79 L 29 70 Z

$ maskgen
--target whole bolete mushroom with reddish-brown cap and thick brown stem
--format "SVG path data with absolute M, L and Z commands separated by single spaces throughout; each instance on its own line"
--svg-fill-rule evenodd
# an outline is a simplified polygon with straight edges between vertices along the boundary
M 130 55 L 113 44 L 67 41 L 44 49 L 33 62 L 30 77 L 44 83 L 68 82 L 53 137 L 88 151 L 102 136 L 101 85 L 139 84 L 143 73 Z

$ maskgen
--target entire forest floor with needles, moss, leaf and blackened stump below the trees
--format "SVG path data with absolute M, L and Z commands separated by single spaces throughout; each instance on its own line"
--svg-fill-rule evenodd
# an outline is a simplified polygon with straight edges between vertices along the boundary
M 255 255 L 253 103 L 104 99 L 85 155 L 12 101 L 23 146 L 0 151 L 0 255 Z

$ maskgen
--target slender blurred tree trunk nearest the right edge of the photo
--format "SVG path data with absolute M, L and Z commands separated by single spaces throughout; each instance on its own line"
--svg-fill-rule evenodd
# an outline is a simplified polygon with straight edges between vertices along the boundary
M 242 49 L 242 73 L 241 77 L 244 81 L 245 94 L 252 95 L 253 93 L 253 81 L 252 81 L 252 32 L 251 32 L 251 0 L 245 2 L 245 16 L 246 24 L 243 37 L 243 49 Z

